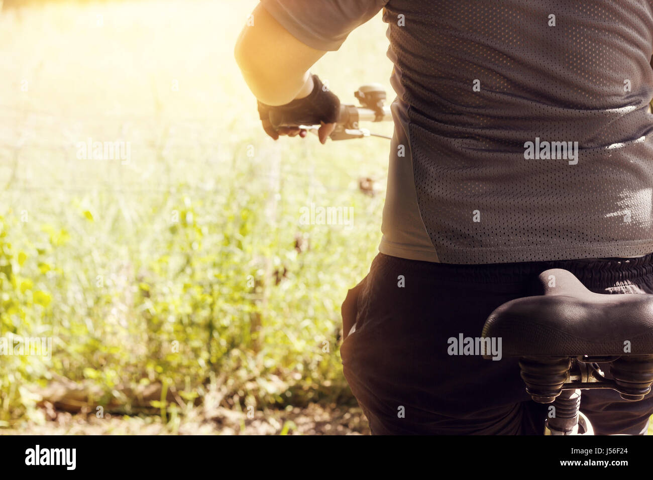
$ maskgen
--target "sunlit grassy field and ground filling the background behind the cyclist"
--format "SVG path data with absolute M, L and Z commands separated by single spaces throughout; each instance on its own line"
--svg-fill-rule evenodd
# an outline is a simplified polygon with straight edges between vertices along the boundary
M 0 432 L 368 432 L 340 304 L 377 251 L 389 142 L 264 135 L 233 57 L 256 4 L 5 1 L 0 336 L 52 358 L 0 355 Z M 313 72 L 391 101 L 386 50 L 379 15 Z M 351 227 L 303 225 L 311 204 Z

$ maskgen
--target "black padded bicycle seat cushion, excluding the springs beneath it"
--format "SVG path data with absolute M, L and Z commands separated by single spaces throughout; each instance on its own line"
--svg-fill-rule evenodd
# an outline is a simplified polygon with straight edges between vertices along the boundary
M 482 337 L 501 338 L 503 357 L 653 354 L 653 295 L 592 293 L 562 268 L 537 280 L 543 295 L 506 302 L 485 322 Z

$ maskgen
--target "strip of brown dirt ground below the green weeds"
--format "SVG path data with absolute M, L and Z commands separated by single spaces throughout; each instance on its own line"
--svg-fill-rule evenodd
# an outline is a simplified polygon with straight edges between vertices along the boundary
M 320 406 L 306 408 L 233 411 L 197 408 L 185 415 L 160 416 L 74 414 L 44 411 L 45 421 L 29 422 L 0 435 L 369 435 L 367 419 L 360 408 Z

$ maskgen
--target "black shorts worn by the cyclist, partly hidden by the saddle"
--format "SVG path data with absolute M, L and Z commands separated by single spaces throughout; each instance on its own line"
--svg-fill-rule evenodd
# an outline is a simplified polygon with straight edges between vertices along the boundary
M 340 349 L 345 377 L 372 432 L 541 435 L 548 406 L 526 394 L 518 359 L 449 355 L 448 339 L 481 336 L 492 310 L 532 295 L 531 282 L 547 268 L 571 271 L 596 293 L 653 293 L 653 253 L 481 265 L 379 253 L 343 303 Z M 628 402 L 609 389 L 583 391 L 581 410 L 596 434 L 643 434 L 653 395 Z

